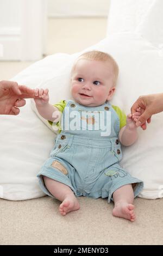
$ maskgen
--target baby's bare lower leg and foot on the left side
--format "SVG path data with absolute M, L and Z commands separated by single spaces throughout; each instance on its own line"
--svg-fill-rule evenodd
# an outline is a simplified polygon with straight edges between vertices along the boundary
M 43 180 L 47 190 L 62 202 L 59 206 L 61 215 L 66 215 L 68 212 L 76 211 L 80 208 L 78 200 L 70 187 L 47 176 L 43 176 Z

